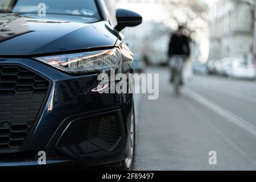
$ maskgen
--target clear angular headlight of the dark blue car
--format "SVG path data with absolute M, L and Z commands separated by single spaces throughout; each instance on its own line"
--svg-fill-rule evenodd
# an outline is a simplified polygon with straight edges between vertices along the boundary
M 117 68 L 121 63 L 122 57 L 119 48 L 113 48 L 104 51 L 36 57 L 35 59 L 60 69 L 61 71 L 68 73 L 84 73 Z

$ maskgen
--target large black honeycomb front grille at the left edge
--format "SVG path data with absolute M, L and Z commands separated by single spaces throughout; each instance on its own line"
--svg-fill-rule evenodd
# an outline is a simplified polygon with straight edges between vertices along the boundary
M 23 146 L 49 89 L 49 81 L 19 65 L 0 64 L 0 151 Z

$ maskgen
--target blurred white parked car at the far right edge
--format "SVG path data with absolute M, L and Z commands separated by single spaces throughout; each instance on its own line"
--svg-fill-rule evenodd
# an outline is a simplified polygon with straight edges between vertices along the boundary
M 232 78 L 255 80 L 255 67 L 246 60 L 236 60 L 232 64 L 228 76 Z

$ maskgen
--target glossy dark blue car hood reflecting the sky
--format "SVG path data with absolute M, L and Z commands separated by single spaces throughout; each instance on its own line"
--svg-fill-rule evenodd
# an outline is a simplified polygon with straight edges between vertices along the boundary
M 118 33 L 108 22 L 81 16 L 0 14 L 0 55 L 38 55 L 113 47 Z

